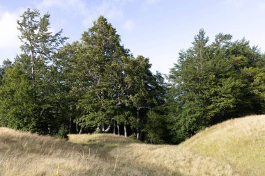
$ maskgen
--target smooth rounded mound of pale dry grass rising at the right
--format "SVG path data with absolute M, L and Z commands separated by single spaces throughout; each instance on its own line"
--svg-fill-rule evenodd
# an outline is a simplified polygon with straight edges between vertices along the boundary
M 265 174 L 265 115 L 228 120 L 179 147 L 229 163 L 240 175 Z

